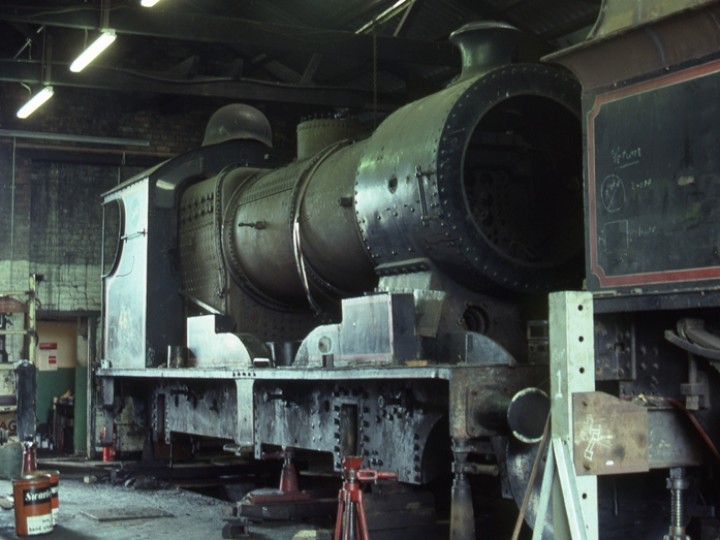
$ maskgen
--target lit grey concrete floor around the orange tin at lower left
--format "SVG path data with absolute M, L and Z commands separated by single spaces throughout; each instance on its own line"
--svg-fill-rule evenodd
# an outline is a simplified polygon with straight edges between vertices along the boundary
M 136 489 L 88 475 L 65 474 L 60 479 L 58 524 L 51 533 L 26 538 L 63 540 L 210 540 L 222 538 L 223 510 L 228 503 L 177 488 Z M 12 482 L 0 480 L 0 498 L 12 498 Z M 110 514 L 105 520 L 102 514 Z M 148 514 L 154 514 L 150 517 Z M 95 516 L 95 517 L 91 517 Z M 147 516 L 147 517 L 136 517 Z M 97 518 L 101 519 L 97 519 Z M 252 526 L 249 538 L 290 540 L 323 538 L 302 524 Z M 0 510 L 0 538 L 15 534 L 13 510 Z

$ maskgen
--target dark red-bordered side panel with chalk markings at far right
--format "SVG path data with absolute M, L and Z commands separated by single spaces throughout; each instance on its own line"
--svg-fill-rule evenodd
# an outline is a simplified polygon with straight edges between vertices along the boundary
M 720 64 L 600 94 L 587 111 L 588 288 L 720 279 Z

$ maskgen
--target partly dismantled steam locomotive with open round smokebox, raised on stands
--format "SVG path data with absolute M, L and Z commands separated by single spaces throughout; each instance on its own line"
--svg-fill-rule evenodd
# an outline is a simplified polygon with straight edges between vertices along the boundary
M 474 536 L 468 476 L 546 423 L 546 294 L 582 278 L 582 139 L 576 81 L 512 63 L 514 29 L 451 39 L 461 75 L 365 138 L 314 120 L 281 164 L 262 113 L 230 105 L 202 147 L 104 196 L 101 444 L 182 433 L 453 474 L 454 537 Z

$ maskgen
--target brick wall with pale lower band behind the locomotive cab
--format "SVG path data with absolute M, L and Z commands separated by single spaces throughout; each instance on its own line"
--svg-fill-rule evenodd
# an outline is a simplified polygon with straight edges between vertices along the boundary
M 0 292 L 43 274 L 42 309 L 100 309 L 101 195 L 150 165 L 200 146 L 211 114 L 227 102 L 58 87 L 27 120 L 28 92 L 0 83 L 0 130 L 146 140 L 149 146 L 0 136 Z M 274 141 L 294 155 L 301 107 L 269 112 Z

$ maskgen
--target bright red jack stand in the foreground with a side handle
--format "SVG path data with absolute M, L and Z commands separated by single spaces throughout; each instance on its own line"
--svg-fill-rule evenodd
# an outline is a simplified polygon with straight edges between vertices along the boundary
M 360 469 L 362 458 L 357 456 L 344 458 L 342 465 L 343 486 L 338 494 L 334 540 L 369 540 L 360 482 L 397 478 L 397 474 Z

